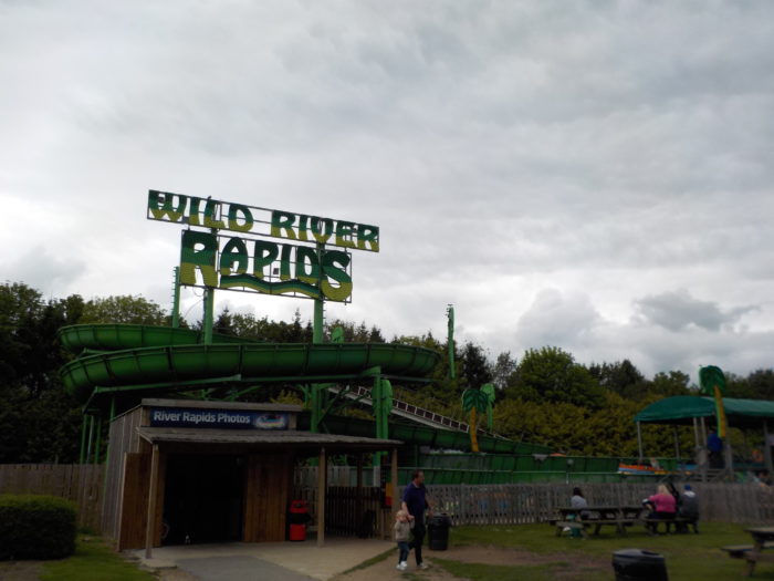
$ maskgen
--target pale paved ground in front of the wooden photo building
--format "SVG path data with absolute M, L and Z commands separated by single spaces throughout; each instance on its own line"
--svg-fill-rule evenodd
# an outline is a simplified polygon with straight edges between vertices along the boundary
M 327 581 L 334 575 L 395 548 L 375 539 L 326 539 L 304 542 L 233 542 L 184 544 L 133 551 L 151 569 L 178 567 L 201 581 Z M 274 575 L 274 577 L 269 577 Z

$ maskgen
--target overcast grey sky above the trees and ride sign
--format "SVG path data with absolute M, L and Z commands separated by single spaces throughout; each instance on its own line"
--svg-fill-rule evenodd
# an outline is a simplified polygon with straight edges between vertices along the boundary
M 773 364 L 774 2 L 0 0 L 0 279 L 46 298 L 170 307 L 153 188 L 379 226 L 327 317 L 387 338 Z

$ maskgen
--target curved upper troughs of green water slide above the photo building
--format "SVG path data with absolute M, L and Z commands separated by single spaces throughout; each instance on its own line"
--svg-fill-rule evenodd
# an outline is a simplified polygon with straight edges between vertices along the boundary
M 92 324 L 60 330 L 81 355 L 62 367 L 65 390 L 85 402 L 95 393 L 180 391 L 201 382 L 325 382 L 363 376 L 422 377 L 440 360 L 435 351 L 388 343 L 257 343 L 215 335 L 201 344 L 188 329 Z

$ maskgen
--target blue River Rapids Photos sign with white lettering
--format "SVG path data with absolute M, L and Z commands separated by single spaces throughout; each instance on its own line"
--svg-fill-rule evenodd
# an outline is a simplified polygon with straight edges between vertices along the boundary
M 151 427 L 287 429 L 286 413 L 196 407 L 151 407 Z

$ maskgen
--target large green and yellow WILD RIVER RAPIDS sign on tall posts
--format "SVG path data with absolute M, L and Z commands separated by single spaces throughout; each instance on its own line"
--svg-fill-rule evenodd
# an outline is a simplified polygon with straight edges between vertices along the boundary
M 180 250 L 188 287 L 349 302 L 349 251 L 379 251 L 377 226 L 155 189 L 147 218 L 188 226 Z

